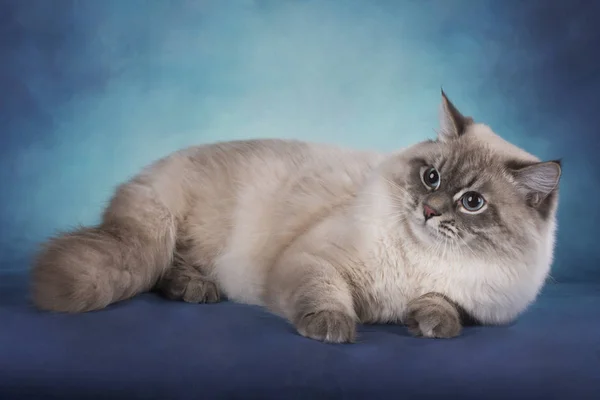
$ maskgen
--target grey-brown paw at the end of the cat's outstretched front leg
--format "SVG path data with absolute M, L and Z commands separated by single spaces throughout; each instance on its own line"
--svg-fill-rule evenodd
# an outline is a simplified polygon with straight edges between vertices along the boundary
M 305 314 L 296 328 L 302 336 L 326 343 L 351 343 L 356 338 L 356 321 L 339 311 Z

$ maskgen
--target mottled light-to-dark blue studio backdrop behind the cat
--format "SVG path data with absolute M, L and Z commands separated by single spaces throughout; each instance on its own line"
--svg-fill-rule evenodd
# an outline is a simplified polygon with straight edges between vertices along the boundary
M 599 280 L 600 2 L 0 0 L 0 268 L 191 144 L 433 136 L 439 88 L 564 175 L 554 278 Z

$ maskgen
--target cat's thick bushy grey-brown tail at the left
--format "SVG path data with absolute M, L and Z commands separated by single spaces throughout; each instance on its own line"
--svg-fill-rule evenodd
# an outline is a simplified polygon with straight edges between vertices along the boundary
M 40 309 L 85 312 L 149 291 L 170 267 L 180 187 L 176 177 L 122 185 L 102 222 L 45 243 L 31 275 Z M 180 197 L 177 197 L 180 196 Z

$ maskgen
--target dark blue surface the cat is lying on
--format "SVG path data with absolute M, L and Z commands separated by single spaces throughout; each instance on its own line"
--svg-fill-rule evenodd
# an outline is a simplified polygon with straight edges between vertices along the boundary
M 23 296 L 23 277 L 2 278 L 1 399 L 584 400 L 600 393 L 600 285 L 547 286 L 512 326 L 467 328 L 456 339 L 364 326 L 359 343 L 326 345 L 260 308 L 228 302 L 148 294 L 89 314 L 40 313 Z

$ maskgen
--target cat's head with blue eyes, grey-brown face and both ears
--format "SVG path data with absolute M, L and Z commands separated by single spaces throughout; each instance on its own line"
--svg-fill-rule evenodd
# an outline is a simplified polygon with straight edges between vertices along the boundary
M 388 169 L 415 240 L 432 251 L 517 258 L 548 242 L 560 162 L 541 162 L 508 143 L 463 116 L 443 92 L 441 121 L 437 140 L 402 151 Z

